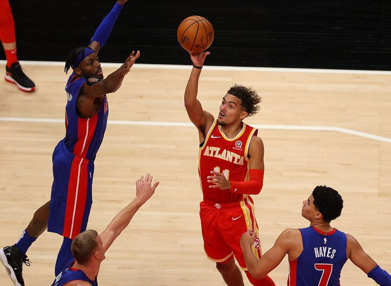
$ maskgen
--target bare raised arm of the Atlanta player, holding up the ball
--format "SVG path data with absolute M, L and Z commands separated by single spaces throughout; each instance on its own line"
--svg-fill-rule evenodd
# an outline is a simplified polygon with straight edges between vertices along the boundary
M 198 80 L 205 58 L 209 52 L 190 53 L 193 62 L 193 69 L 185 90 L 185 107 L 190 120 L 195 127 L 205 137 L 206 127 L 213 123 L 213 115 L 202 109 L 201 103 L 197 99 Z M 202 139 L 202 138 L 200 138 Z

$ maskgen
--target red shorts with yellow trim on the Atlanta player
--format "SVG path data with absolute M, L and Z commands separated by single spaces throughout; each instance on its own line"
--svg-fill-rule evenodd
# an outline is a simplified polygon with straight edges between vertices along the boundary
M 204 250 L 210 260 L 225 263 L 235 256 L 240 267 L 247 270 L 240 248 L 240 238 L 248 229 L 257 232 L 252 250 L 256 258 L 261 257 L 261 242 L 251 197 L 236 203 L 203 200 L 200 203 L 199 216 Z

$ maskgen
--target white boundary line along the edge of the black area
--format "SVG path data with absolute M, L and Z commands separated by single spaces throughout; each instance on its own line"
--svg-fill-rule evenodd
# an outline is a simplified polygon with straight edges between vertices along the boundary
M 20 61 L 22 65 L 35 66 L 64 66 L 65 62 L 52 61 Z M 0 64 L 6 64 L 0 60 Z M 122 63 L 102 63 L 103 67 L 120 67 Z M 160 64 L 134 64 L 135 68 L 153 69 L 188 69 L 192 65 L 160 65 Z M 270 72 L 306 72 L 306 73 L 344 73 L 344 74 L 382 74 L 391 75 L 390 70 L 365 70 L 365 69 L 327 69 L 327 68 L 294 68 L 294 67 L 258 67 L 258 66 L 204 66 L 206 70 L 242 70 L 242 71 L 270 71 Z

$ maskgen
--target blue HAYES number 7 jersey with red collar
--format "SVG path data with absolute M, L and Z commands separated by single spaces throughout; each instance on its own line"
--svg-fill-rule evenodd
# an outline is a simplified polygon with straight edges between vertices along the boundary
M 316 227 L 299 229 L 303 252 L 289 262 L 288 286 L 339 286 L 346 262 L 346 234 L 335 229 L 324 233 Z

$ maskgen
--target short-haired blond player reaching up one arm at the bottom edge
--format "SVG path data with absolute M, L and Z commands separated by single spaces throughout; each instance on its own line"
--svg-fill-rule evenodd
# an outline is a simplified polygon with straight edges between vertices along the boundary
M 137 210 L 153 195 L 159 182 L 151 187 L 152 176 L 141 177 L 136 181 L 136 198 L 120 211 L 99 235 L 95 230 L 87 230 L 75 237 L 72 253 L 75 259 L 69 261 L 57 275 L 52 286 L 97 286 L 97 275 L 105 253 L 111 243 L 128 226 Z

